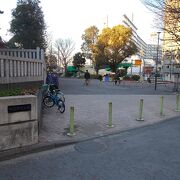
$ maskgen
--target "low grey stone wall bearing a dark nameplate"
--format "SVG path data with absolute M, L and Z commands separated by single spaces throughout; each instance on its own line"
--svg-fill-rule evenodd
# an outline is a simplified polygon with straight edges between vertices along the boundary
M 38 143 L 37 97 L 0 97 L 0 150 Z

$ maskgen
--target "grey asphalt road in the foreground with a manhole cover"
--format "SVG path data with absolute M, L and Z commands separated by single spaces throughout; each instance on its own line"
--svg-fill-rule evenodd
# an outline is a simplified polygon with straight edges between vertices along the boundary
M 0 162 L 0 180 L 179 180 L 179 139 L 174 118 Z

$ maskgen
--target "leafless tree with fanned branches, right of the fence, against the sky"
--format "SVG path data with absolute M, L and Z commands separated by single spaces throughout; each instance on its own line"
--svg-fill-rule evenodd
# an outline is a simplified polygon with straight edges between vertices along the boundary
M 75 43 L 71 39 L 58 39 L 55 42 L 55 47 L 57 48 L 58 58 L 60 59 L 65 75 L 67 74 L 67 66 L 72 60 L 72 52 L 75 49 Z

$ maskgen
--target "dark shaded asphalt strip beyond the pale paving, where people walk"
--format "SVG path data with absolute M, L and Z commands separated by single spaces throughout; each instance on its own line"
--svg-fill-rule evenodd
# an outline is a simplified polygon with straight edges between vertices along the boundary
M 74 95 L 128 95 L 128 94 L 141 94 L 141 95 L 165 95 L 172 94 L 173 84 L 157 84 L 157 90 L 154 90 L 154 83 L 148 84 L 137 82 L 122 82 L 120 85 L 114 85 L 113 82 L 100 82 L 99 80 L 92 79 L 89 86 L 84 85 L 84 79 L 75 78 L 60 78 L 60 89 L 65 94 Z

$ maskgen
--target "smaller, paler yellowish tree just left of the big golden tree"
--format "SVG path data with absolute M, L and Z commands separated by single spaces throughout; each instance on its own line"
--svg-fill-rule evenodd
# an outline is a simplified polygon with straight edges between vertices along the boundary
M 85 29 L 84 34 L 82 35 L 82 40 L 84 41 L 81 50 L 84 53 L 85 57 L 90 59 L 94 64 L 93 59 L 93 50 L 98 39 L 99 29 L 96 26 L 90 26 Z

